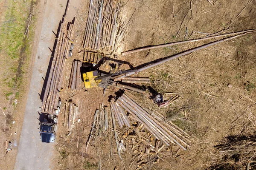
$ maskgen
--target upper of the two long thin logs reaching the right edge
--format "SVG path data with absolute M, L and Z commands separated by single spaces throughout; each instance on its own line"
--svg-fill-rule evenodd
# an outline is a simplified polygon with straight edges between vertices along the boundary
M 215 38 L 219 38 L 219 37 L 232 36 L 232 35 L 236 35 L 236 34 L 250 33 L 250 32 L 254 32 L 254 31 L 256 31 L 256 29 L 250 29 L 250 30 L 246 30 L 246 31 L 239 31 L 239 32 L 228 33 L 228 34 L 215 35 L 215 36 L 199 38 L 199 39 L 195 39 L 195 40 L 171 42 L 171 43 L 167 43 L 167 44 L 154 45 L 154 46 L 150 46 L 150 47 L 142 47 L 142 48 L 139 48 L 139 49 L 122 52 L 122 55 L 124 56 L 124 55 L 127 55 L 127 54 L 132 54 L 132 53 L 136 53 L 136 52 L 140 52 L 140 51 L 145 51 L 145 50 L 150 50 L 150 49 L 154 49 L 154 48 L 168 47 L 168 46 L 171 46 L 171 45 L 178 45 L 178 44 L 184 44 L 184 43 L 189 43 L 189 42 L 197 42 L 197 41 L 209 40 L 209 39 L 212 39 L 212 38 L 215 39 Z

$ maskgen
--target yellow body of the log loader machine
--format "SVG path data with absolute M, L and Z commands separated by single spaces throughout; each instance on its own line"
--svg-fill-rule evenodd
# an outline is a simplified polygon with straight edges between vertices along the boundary
M 99 85 L 101 80 L 96 80 L 95 78 L 98 77 L 98 71 L 90 71 L 87 73 L 83 73 L 83 78 L 84 78 L 84 86 L 85 88 L 93 88 Z

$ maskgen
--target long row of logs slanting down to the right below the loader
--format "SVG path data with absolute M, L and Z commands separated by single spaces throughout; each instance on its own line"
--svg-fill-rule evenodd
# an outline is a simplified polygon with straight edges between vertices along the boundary
M 172 122 L 166 122 L 163 115 L 158 113 L 149 114 L 126 94 L 116 100 L 116 105 L 122 106 L 129 112 L 132 119 L 140 122 L 157 140 L 161 140 L 166 146 L 177 144 L 183 150 L 190 147 L 188 144 L 190 136 Z

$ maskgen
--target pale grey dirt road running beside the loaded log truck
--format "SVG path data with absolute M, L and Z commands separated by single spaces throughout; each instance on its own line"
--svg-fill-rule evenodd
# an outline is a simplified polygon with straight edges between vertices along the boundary
M 38 43 L 33 56 L 33 67 L 30 90 L 26 103 L 23 127 L 18 144 L 18 152 L 15 170 L 47 170 L 50 169 L 54 144 L 42 143 L 38 130 L 42 86 L 46 76 L 49 59 L 58 23 L 64 14 L 67 0 L 45 0 L 39 7 L 42 17 L 38 18 L 38 35 L 35 42 Z M 40 15 L 40 14 L 39 14 Z M 40 31 L 41 30 L 41 31 Z M 54 33 L 53 33 L 53 32 Z M 35 45 L 36 46 L 36 45 Z

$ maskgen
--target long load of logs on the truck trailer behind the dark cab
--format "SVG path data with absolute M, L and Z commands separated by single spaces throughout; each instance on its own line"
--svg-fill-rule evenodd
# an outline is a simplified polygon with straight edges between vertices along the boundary
M 65 61 L 66 57 L 68 56 L 70 42 L 72 40 L 74 30 L 73 26 L 75 20 L 72 22 L 67 22 L 65 19 L 66 18 L 64 17 L 58 33 L 57 44 L 41 106 L 41 112 L 52 115 L 55 114 L 54 111 L 58 106 L 59 91 L 61 90 L 61 81 L 64 74 Z

